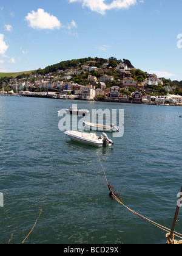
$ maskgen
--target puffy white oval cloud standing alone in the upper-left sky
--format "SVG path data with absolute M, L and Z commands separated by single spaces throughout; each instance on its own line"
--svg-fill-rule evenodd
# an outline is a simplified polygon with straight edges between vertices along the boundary
M 33 29 L 60 29 L 60 21 L 50 13 L 45 12 L 43 9 L 38 9 L 37 12 L 32 11 L 25 16 L 28 21 L 29 27 Z

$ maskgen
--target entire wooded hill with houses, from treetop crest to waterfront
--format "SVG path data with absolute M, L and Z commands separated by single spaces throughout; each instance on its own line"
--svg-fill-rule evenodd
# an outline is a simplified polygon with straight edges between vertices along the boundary
M 136 69 L 129 60 L 110 57 L 67 60 L 16 78 L 0 80 L 1 94 L 182 105 L 182 81 Z

